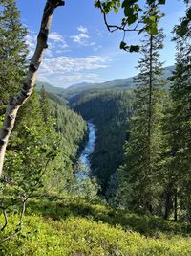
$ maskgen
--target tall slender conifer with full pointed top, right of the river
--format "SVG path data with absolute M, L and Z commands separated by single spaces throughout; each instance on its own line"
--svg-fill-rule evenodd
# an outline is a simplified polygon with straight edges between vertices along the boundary
M 138 61 L 140 73 L 135 82 L 134 114 L 131 119 L 130 139 L 126 143 L 126 163 L 119 171 L 122 204 L 142 209 L 144 212 L 159 211 L 159 161 L 162 151 L 161 118 L 164 81 L 161 79 L 162 63 L 159 50 L 164 35 L 145 35 Z M 119 182 L 119 183 L 120 183 Z M 131 194 L 131 196 L 130 196 Z

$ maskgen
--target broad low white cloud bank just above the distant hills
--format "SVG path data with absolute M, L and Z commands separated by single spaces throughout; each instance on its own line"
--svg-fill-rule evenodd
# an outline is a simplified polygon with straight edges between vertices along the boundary
M 85 58 L 45 58 L 39 70 L 39 80 L 65 87 L 81 81 L 98 82 L 100 77 L 93 72 L 109 66 L 110 58 L 89 56 Z

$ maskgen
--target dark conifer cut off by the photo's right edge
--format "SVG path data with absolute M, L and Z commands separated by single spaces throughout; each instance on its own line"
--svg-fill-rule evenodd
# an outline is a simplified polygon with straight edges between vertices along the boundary
M 177 59 L 171 78 L 171 105 L 168 109 L 166 133 L 169 153 L 166 157 L 166 214 L 167 219 L 174 209 L 184 210 L 191 221 L 191 27 L 186 17 L 175 27 Z M 178 205 L 179 204 L 179 205 Z

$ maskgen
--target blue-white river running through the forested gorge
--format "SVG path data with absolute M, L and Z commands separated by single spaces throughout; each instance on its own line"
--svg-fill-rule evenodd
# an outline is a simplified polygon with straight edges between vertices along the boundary
M 96 126 L 88 122 L 88 141 L 85 145 L 83 151 L 81 151 L 78 158 L 78 168 L 75 173 L 76 178 L 85 179 L 89 175 L 91 175 L 91 154 L 95 151 L 96 144 Z

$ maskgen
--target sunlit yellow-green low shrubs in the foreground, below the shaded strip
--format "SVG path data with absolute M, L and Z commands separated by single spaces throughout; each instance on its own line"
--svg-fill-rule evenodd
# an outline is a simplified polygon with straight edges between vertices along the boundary
M 11 216 L 11 224 L 15 222 Z M 2 218 L 1 218 L 2 221 Z M 9 226 L 11 228 L 11 226 Z M 62 221 L 27 216 L 25 228 L 13 241 L 1 244 L 1 255 L 62 256 L 188 256 L 191 239 L 174 236 L 146 238 L 120 226 L 69 217 Z

